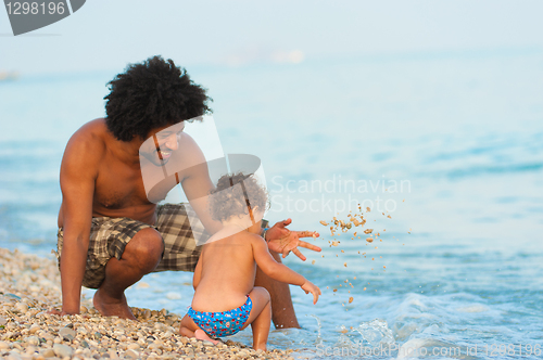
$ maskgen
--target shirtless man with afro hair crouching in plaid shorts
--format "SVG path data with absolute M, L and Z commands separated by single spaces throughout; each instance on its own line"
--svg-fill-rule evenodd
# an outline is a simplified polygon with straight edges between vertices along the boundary
M 109 85 L 106 117 L 77 130 L 62 159 L 58 255 L 63 304 L 58 313 L 79 312 L 85 285 L 98 288 L 93 304 L 103 316 L 135 319 L 124 291 L 151 271 L 193 271 L 200 254 L 194 236 L 203 227 L 211 234 L 220 229 L 199 201 L 213 188 L 206 167 L 192 166 L 202 164 L 203 155 L 182 132 L 184 120 L 211 112 L 210 98 L 184 69 L 160 56 L 128 66 Z M 157 180 L 146 189 L 142 171 L 154 166 L 160 176 L 166 162 L 184 169 L 176 181 Z M 157 206 L 177 183 L 191 206 Z M 203 227 L 190 226 L 195 218 Z M 278 253 L 285 257 L 291 250 L 305 260 L 298 246 L 320 250 L 299 240 L 313 232 L 289 231 L 290 222 L 264 233 L 278 261 Z M 299 327 L 287 284 L 258 271 L 255 285 L 270 293 L 277 327 Z

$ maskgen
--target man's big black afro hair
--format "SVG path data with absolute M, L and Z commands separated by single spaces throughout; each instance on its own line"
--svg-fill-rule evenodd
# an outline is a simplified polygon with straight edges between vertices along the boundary
M 174 61 L 154 56 L 130 64 L 108 82 L 105 124 L 113 136 L 144 140 L 151 130 L 212 113 L 206 89 L 194 83 Z

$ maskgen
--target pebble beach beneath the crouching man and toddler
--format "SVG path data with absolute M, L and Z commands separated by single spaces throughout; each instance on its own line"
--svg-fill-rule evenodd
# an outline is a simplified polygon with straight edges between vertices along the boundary
M 287 359 L 289 350 L 255 351 L 227 340 L 213 345 L 178 334 L 182 314 L 131 308 L 138 321 L 102 317 L 91 299 L 78 316 L 61 307 L 53 257 L 0 248 L 0 359 Z M 292 358 L 291 358 L 292 359 Z

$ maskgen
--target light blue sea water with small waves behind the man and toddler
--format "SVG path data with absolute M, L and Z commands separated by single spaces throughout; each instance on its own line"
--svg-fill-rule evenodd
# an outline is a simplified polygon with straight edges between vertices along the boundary
M 64 146 L 104 115 L 105 82 L 121 70 L 0 83 L 0 246 L 51 256 Z M 214 99 L 224 152 L 262 159 L 266 218 L 320 232 L 307 241 L 321 253 L 285 262 L 323 296 L 313 305 L 291 286 L 303 329 L 272 331 L 270 348 L 315 359 L 538 358 L 542 51 L 188 70 Z M 332 236 L 319 223 L 348 220 L 357 204 L 380 233 L 372 243 L 353 236 L 359 227 Z M 184 314 L 191 274 L 149 274 L 126 293 L 131 306 Z M 250 344 L 250 330 L 233 339 Z

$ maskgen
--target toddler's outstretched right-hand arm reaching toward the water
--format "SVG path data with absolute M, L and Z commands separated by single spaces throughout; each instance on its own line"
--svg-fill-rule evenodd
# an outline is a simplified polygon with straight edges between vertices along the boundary
M 272 254 L 269 254 L 268 246 L 264 239 L 261 236 L 252 236 L 252 246 L 254 260 L 266 275 L 283 283 L 301 286 L 306 294 L 313 294 L 313 304 L 317 303 L 318 296 L 320 295 L 320 288 L 294 270 L 277 262 Z

